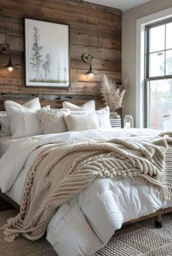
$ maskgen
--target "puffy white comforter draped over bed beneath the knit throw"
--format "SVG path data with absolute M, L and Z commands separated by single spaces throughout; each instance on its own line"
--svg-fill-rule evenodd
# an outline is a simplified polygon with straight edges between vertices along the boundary
M 20 204 L 24 181 L 34 159 L 49 143 L 112 139 L 121 136 L 157 136 L 148 129 L 112 129 L 33 136 L 20 139 L 0 159 L 0 188 Z M 42 147 L 40 147 L 42 146 Z M 123 222 L 172 206 L 146 184 L 132 179 L 95 179 L 69 203 L 60 206 L 47 228 L 47 240 L 59 256 L 93 255 Z

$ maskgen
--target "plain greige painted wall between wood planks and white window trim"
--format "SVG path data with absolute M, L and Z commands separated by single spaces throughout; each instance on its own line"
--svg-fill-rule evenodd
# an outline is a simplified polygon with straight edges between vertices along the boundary
M 131 114 L 136 121 L 136 20 L 172 7 L 172 0 L 152 0 L 122 13 L 122 79 L 126 76 L 123 115 Z

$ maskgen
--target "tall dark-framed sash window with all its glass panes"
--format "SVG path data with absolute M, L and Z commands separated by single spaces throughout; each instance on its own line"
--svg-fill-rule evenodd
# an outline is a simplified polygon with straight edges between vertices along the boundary
M 172 130 L 172 20 L 146 26 L 147 128 Z

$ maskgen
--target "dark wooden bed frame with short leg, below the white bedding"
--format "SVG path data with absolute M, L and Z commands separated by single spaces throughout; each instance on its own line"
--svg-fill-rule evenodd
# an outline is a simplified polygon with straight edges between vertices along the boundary
M 4 193 L 1 193 L 1 191 L 0 191 L 0 198 L 4 199 L 4 201 L 11 204 L 12 206 L 14 206 L 15 209 L 20 211 L 20 206 L 17 203 L 15 203 L 15 201 L 13 201 L 11 198 L 9 198 L 7 195 L 5 195 Z M 155 218 L 155 228 L 163 228 L 162 215 L 166 214 L 168 212 L 172 212 L 172 207 L 165 208 L 165 209 L 160 209 L 160 210 L 158 210 L 157 212 L 155 212 L 153 214 L 149 214 L 149 215 L 140 217 L 140 218 L 135 219 L 135 220 L 130 220 L 128 222 L 125 222 L 123 225 L 127 225 L 127 224 L 130 224 L 130 223 L 138 222 L 140 220 L 146 220 L 146 219 L 154 217 Z

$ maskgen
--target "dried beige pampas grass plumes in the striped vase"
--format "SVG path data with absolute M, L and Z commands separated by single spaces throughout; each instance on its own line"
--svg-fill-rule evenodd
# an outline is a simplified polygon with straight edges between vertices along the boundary
M 128 78 L 125 81 L 125 85 L 128 83 Z M 122 100 L 125 94 L 124 86 L 122 91 L 118 88 L 117 83 L 112 79 L 108 79 L 106 74 L 103 74 L 103 80 L 101 82 L 101 96 L 106 106 L 109 106 L 110 112 L 115 112 L 122 106 Z

